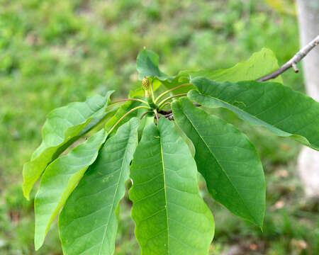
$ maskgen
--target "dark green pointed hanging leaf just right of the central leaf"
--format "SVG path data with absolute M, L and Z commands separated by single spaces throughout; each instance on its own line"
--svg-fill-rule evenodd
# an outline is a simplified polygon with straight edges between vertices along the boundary
M 235 215 L 262 228 L 265 183 L 252 143 L 233 125 L 180 98 L 174 119 L 196 146 L 195 160 L 211 196 Z

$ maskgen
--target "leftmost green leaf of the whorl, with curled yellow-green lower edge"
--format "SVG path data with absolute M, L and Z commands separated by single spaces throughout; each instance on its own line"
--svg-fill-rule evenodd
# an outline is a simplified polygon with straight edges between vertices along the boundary
M 92 119 L 105 114 L 112 93 L 108 91 L 106 96 L 97 95 L 87 98 L 85 102 L 69 103 L 47 115 L 42 129 L 43 141 L 33 152 L 30 162 L 23 165 L 23 195 L 26 198 L 29 199 L 35 181 L 47 164 L 79 138 L 78 135 Z

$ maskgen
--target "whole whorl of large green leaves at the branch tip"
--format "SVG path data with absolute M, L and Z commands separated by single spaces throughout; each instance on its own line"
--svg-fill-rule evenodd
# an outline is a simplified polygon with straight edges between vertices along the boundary
M 43 142 L 23 166 L 26 198 L 40 178 L 35 249 L 61 211 L 65 254 L 113 254 L 119 202 L 130 179 L 142 254 L 207 254 L 214 220 L 197 172 L 214 200 L 262 229 L 265 181 L 257 150 L 205 109 L 227 108 L 319 150 L 319 103 L 282 85 L 280 77 L 254 81 L 277 67 L 274 54 L 262 49 L 230 69 L 168 76 L 155 52 L 142 50 L 137 69 L 143 86 L 129 98 L 111 101 L 109 91 L 49 113 Z M 167 90 L 155 97 L 162 87 Z

